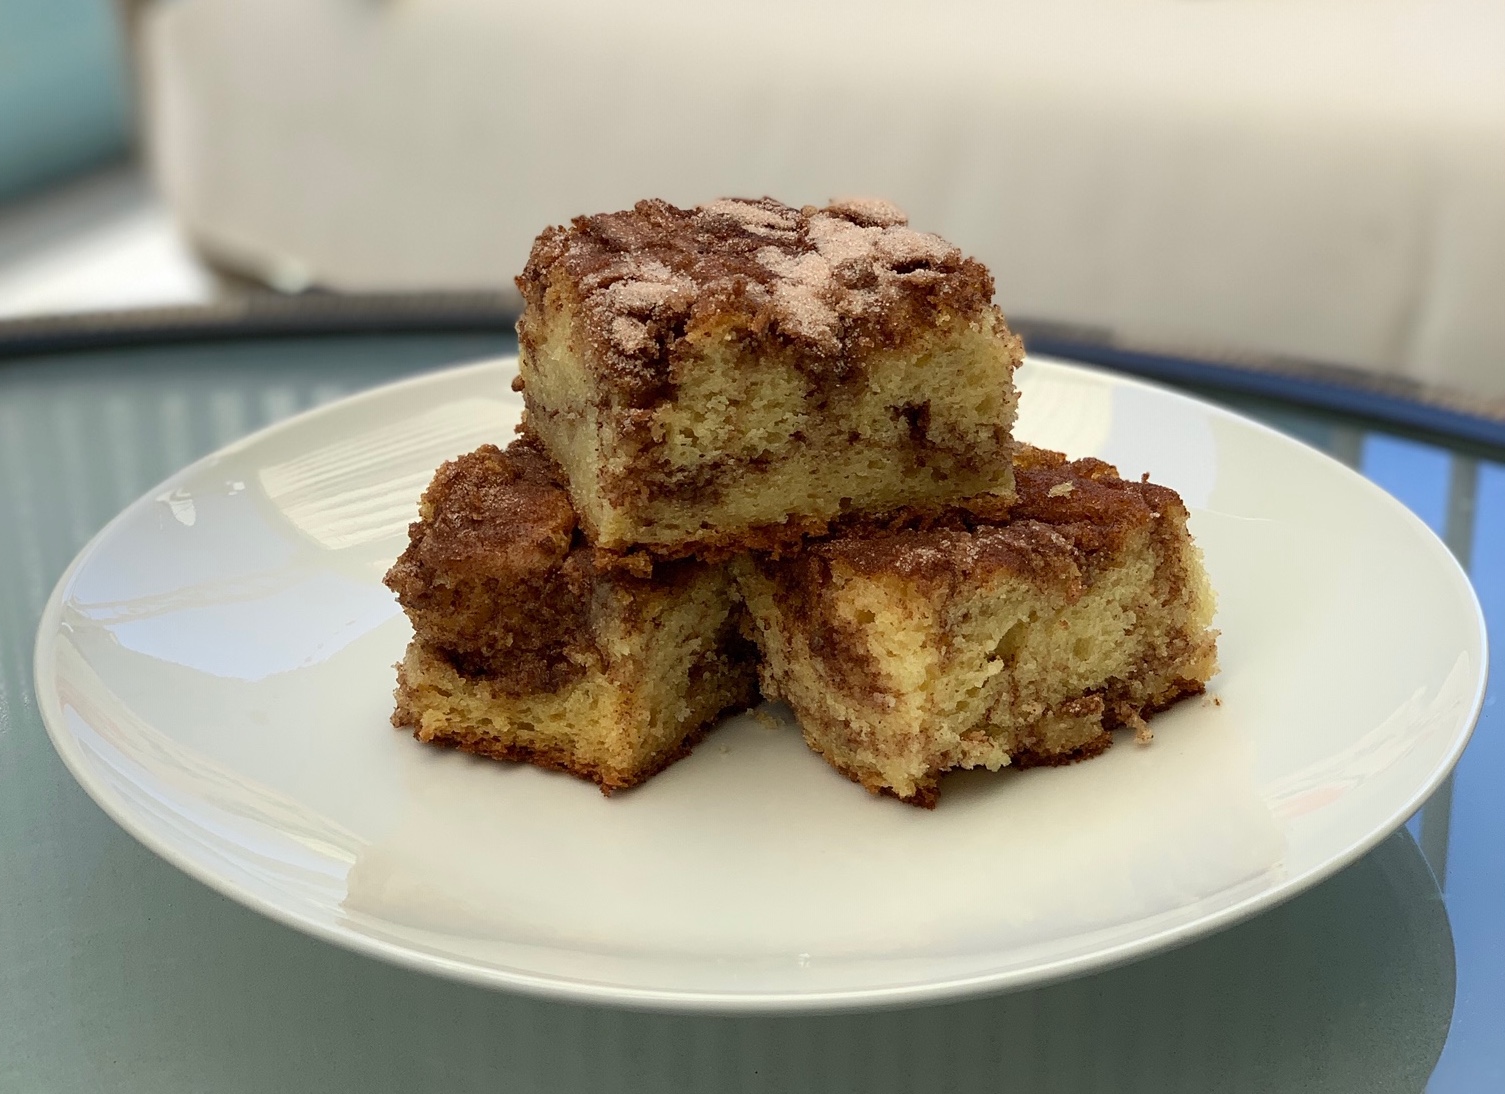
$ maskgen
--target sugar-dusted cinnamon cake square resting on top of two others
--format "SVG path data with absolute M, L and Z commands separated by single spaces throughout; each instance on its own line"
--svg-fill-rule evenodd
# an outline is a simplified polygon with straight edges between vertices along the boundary
M 1020 342 L 987 269 L 885 202 L 640 202 L 546 230 L 518 286 L 527 429 L 600 549 L 1013 495 Z

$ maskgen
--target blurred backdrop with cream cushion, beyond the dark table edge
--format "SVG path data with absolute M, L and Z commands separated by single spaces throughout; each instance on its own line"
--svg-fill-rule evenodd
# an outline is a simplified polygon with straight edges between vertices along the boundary
M 504 315 L 646 196 L 883 196 L 1026 334 L 1505 405 L 1491 0 L 0 0 L 0 324 Z

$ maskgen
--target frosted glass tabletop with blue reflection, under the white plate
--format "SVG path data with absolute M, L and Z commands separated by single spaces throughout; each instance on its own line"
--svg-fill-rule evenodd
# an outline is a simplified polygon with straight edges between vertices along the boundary
M 1505 713 L 1348 870 L 1135 965 L 942 1007 L 688 1017 L 540 1002 L 304 937 L 117 829 L 53 754 L 54 581 L 172 471 L 287 414 L 509 352 L 504 333 L 101 345 L 0 360 L 0 1091 L 1505 1089 Z M 1183 385 L 1353 465 L 1505 628 L 1505 447 Z

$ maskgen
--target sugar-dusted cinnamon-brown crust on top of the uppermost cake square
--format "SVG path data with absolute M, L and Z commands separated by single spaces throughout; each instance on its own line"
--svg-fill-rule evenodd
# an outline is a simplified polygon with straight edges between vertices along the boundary
M 903 345 L 942 315 L 989 307 L 993 280 L 886 202 L 793 209 L 724 199 L 695 209 L 638 202 L 545 230 L 518 277 L 527 354 L 555 305 L 572 310 L 588 367 L 620 406 L 650 406 L 718 331 L 766 352 L 793 349 L 819 384 L 874 349 Z

